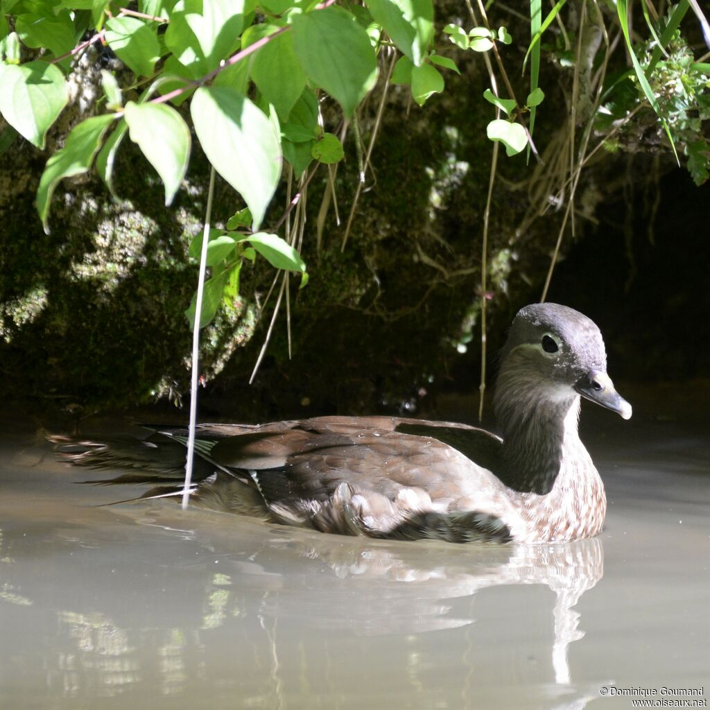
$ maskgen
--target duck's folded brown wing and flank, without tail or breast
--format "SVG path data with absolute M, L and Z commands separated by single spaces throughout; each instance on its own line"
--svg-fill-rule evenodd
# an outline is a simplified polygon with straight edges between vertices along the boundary
M 479 440 L 492 460 L 499 440 L 474 427 L 317 417 L 225 437 L 209 455 L 223 470 L 251 479 L 281 522 L 373 537 L 505 538 L 508 529 L 496 515 L 506 507 L 504 486 L 459 450 L 472 452 Z

